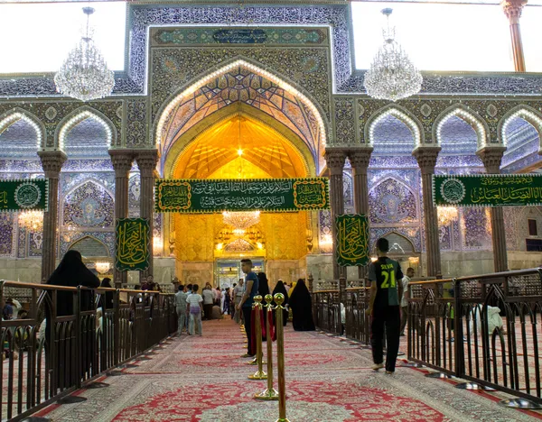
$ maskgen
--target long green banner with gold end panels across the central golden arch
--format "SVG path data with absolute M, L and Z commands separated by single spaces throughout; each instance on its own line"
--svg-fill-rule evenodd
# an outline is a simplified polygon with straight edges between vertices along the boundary
M 328 179 L 158 179 L 157 213 L 329 209 Z

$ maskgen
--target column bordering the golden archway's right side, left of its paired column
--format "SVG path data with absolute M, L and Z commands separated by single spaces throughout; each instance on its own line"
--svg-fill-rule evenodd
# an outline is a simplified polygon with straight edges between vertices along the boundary
M 344 214 L 344 188 L 342 171 L 346 161 L 346 151 L 340 148 L 328 148 L 325 150 L 325 161 L 330 172 L 330 202 L 332 205 L 332 236 L 333 236 L 333 279 L 339 280 L 346 276 L 346 267 L 340 267 L 337 263 L 337 226 L 335 217 Z

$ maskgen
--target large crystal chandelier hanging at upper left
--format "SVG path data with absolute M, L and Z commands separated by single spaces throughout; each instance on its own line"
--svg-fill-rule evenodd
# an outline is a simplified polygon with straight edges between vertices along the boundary
M 70 51 L 68 59 L 54 76 L 57 91 L 81 101 L 103 98 L 115 86 L 114 74 L 89 36 L 89 17 L 92 7 L 83 7 L 87 15 L 87 31 L 79 45 Z

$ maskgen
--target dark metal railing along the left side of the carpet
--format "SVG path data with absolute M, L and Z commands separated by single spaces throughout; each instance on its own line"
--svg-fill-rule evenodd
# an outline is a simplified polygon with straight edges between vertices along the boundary
M 0 321 L 0 420 L 21 420 L 84 388 L 176 330 L 171 294 L 2 280 L 2 304 L 7 288 L 26 290 L 30 301 L 25 319 Z

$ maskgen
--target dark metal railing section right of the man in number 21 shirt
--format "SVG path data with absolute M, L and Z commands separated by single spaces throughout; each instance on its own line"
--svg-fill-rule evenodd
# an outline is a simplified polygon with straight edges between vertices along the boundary
M 542 403 L 541 270 L 409 284 L 408 358 Z

